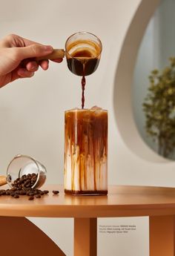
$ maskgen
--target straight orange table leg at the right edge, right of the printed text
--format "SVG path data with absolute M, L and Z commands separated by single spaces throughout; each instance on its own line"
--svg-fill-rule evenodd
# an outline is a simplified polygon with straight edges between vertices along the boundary
M 174 215 L 153 216 L 150 220 L 150 256 L 174 256 Z

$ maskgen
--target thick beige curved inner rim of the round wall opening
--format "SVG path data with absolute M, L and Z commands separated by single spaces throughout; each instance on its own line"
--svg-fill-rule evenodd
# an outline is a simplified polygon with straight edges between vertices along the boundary
M 142 42 L 148 22 L 153 16 L 156 7 L 158 7 L 159 2 L 160 0 L 142 0 L 128 28 L 116 68 L 113 88 L 113 108 L 116 125 L 125 145 L 134 154 L 142 157 L 144 160 L 154 163 L 168 163 L 170 160 L 166 160 L 152 151 L 140 137 L 133 118 L 131 102 L 133 70 L 135 68 L 139 45 Z

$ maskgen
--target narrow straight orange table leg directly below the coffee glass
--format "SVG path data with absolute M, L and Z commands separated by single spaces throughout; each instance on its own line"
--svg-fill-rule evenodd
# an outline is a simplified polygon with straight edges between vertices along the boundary
M 96 256 L 96 218 L 74 219 L 74 256 Z

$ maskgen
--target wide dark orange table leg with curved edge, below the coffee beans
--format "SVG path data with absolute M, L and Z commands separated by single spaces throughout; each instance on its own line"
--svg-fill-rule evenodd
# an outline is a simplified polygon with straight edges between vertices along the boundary
M 65 256 L 59 246 L 25 217 L 0 217 L 0 255 Z

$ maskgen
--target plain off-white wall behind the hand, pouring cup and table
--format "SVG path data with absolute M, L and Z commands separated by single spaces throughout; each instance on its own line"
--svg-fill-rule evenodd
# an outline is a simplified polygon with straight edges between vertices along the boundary
M 153 163 L 142 160 L 125 145 L 114 119 L 113 82 L 116 65 L 128 26 L 140 2 L 3 1 L 0 9 L 0 38 L 8 33 L 17 33 L 53 47 L 64 47 L 67 36 L 79 30 L 99 36 L 103 44 L 102 60 L 96 73 L 87 78 L 85 105 L 99 105 L 109 111 L 109 184 L 171 186 L 174 184 L 174 165 L 166 172 L 164 168 L 157 168 L 157 165 L 152 170 Z M 39 70 L 32 79 L 19 80 L 1 88 L 1 174 L 5 174 L 7 163 L 14 155 L 29 154 L 46 166 L 47 183 L 63 183 L 64 111 L 79 106 L 80 100 L 80 79 L 67 70 L 65 62 L 62 65 L 50 63 L 50 69 L 46 72 Z M 165 181 L 168 171 L 172 183 Z M 156 179 L 158 173 L 159 180 Z M 66 255 L 73 255 L 72 220 L 32 220 L 59 244 Z M 105 223 L 105 220 L 102 221 Z M 137 220 L 135 223 L 137 225 Z M 146 227 L 147 222 L 138 219 L 140 226 Z M 138 235 L 140 237 L 141 234 Z M 125 243 L 125 240 L 122 241 Z M 148 243 L 145 244 L 144 240 L 141 243 L 140 251 L 137 250 L 134 255 L 143 256 L 144 252 L 144 256 L 148 256 Z M 118 251 L 113 246 L 113 240 L 109 249 L 122 256 L 130 255 L 129 251 L 122 251 L 122 247 Z M 101 247 L 99 256 L 103 256 L 102 251 Z

